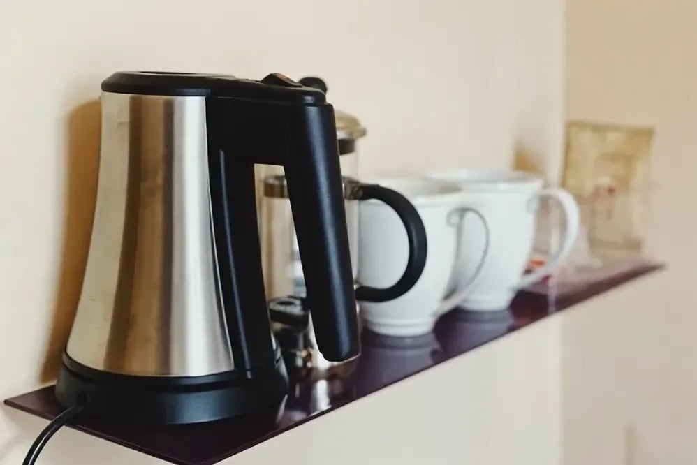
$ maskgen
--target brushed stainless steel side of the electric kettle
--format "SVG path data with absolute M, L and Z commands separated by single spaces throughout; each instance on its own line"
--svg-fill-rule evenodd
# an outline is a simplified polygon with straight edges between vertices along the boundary
M 234 368 L 218 297 L 205 98 L 103 92 L 85 281 L 66 351 L 140 376 Z

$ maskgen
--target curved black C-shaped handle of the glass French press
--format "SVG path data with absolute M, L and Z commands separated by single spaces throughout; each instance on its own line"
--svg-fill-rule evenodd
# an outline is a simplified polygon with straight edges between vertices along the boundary
M 399 280 L 388 288 L 359 286 L 355 290 L 355 300 L 362 302 L 387 302 L 406 294 L 421 277 L 426 265 L 427 240 L 426 228 L 416 208 L 397 191 L 376 184 L 361 184 L 353 195 L 357 200 L 375 199 L 391 207 L 402 220 L 409 242 L 409 258 L 406 268 Z

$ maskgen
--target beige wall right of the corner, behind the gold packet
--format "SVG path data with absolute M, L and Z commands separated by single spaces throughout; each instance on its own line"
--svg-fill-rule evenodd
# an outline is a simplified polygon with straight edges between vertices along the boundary
M 670 274 L 569 318 L 565 463 L 694 464 L 697 314 L 678 302 L 697 282 L 697 3 L 568 0 L 566 17 L 568 116 L 656 128 L 650 249 Z

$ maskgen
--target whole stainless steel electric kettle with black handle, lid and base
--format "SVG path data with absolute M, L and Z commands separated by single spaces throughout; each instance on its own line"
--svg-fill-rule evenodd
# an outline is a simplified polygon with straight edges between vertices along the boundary
M 254 166 L 284 167 L 319 346 L 358 355 L 333 109 L 268 75 L 126 72 L 102 83 L 91 243 L 56 394 L 138 423 L 277 408 Z M 317 244 L 322 244 L 318 246 Z

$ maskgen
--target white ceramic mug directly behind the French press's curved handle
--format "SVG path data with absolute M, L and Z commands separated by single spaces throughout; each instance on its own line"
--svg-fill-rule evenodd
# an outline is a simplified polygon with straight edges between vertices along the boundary
M 423 273 L 413 288 L 388 302 L 359 302 L 360 314 L 367 327 L 379 334 L 425 334 L 444 310 L 462 300 L 477 267 L 483 266 L 486 247 L 478 249 L 471 263 L 473 279 L 453 279 L 462 268 L 458 257 L 465 256 L 458 250 L 464 218 L 478 216 L 480 226 L 486 223 L 475 209 L 463 207 L 462 189 L 457 184 L 409 177 L 378 179 L 376 184 L 401 193 L 416 207 L 426 230 L 427 255 Z M 409 252 L 402 221 L 383 203 L 367 200 L 360 203 L 359 225 L 358 282 L 377 287 L 392 285 L 402 274 Z

